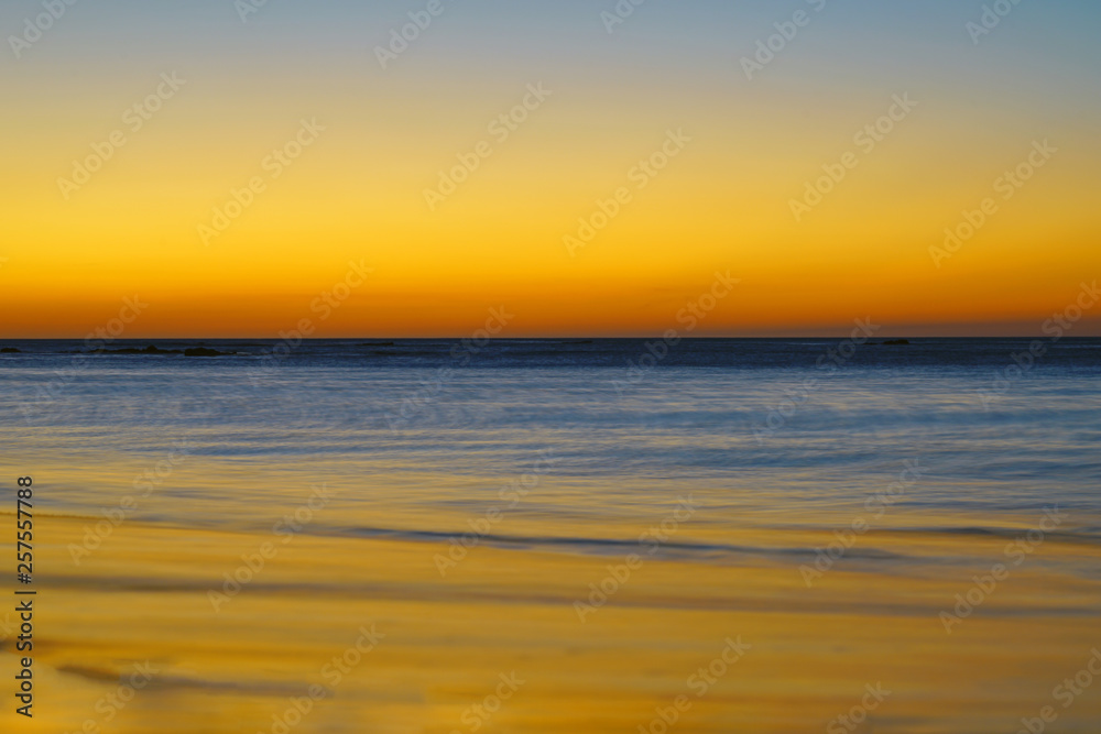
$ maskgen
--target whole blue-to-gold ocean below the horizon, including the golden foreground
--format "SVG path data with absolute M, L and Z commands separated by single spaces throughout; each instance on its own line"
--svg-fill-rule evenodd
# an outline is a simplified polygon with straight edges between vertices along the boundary
M 1099 731 L 1101 339 L 897 341 L 0 343 L 42 731 Z

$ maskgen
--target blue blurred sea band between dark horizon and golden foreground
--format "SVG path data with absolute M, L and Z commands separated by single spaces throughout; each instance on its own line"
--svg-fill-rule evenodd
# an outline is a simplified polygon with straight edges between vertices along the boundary
M 697 523 L 733 537 L 848 523 L 912 460 L 919 480 L 881 527 L 998 527 L 1058 504 L 1098 529 L 1101 340 L 1064 340 L 1028 371 L 1013 360 L 1027 340 L 850 359 L 827 340 L 697 340 L 662 360 L 646 343 L 324 341 L 273 358 L 272 343 L 206 342 L 232 354 L 203 358 L 11 342 L 23 353 L 0 355 L 4 463 L 66 467 L 43 502 L 94 512 L 183 445 L 178 475 L 138 516 L 260 526 L 327 482 L 341 508 L 310 532 L 447 532 L 549 451 L 527 523 L 585 537 L 690 491 L 708 508 Z M 109 349 L 149 344 L 195 346 Z M 188 461 L 222 469 L 196 476 Z

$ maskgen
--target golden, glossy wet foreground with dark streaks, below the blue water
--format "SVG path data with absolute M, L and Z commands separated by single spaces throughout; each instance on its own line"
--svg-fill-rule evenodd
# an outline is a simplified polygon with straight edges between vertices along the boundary
M 970 581 L 929 569 L 963 554 L 996 561 L 1004 538 L 872 532 L 868 547 L 923 562 L 886 576 L 844 559 L 810 589 L 795 561 L 657 554 L 606 582 L 608 601 L 582 622 L 575 602 L 624 555 L 483 546 L 442 578 L 442 543 L 282 544 L 127 522 L 76 566 L 68 546 L 89 523 L 36 518 L 35 715 L 8 705 L 3 731 L 282 732 L 282 717 L 296 732 L 657 733 L 661 710 L 678 732 L 978 734 L 1016 732 L 1044 705 L 1059 715 L 1051 731 L 1101 720 L 1101 681 L 1067 709 L 1051 698 L 1101 645 L 1101 583 L 1053 571 L 1101 557 L 1073 536 L 1048 538 L 948 634 L 938 614 Z M 763 529 L 727 540 L 824 543 Z M 222 574 L 270 541 L 272 557 L 216 611 Z M 0 634 L 13 670 L 11 627 Z M 837 728 L 862 699 L 868 721 Z

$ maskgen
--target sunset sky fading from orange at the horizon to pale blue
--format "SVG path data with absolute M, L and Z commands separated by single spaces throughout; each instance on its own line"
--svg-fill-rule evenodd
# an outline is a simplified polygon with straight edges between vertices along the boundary
M 1095 2 L 254 2 L 0 6 L 0 338 L 1031 336 L 1101 270 Z

